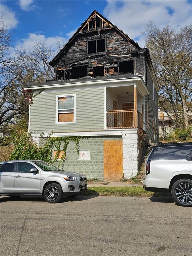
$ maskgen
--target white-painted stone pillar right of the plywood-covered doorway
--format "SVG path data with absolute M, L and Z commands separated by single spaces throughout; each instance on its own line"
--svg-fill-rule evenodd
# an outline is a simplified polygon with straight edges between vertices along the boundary
M 123 174 L 130 179 L 138 173 L 138 134 L 137 130 L 123 134 Z

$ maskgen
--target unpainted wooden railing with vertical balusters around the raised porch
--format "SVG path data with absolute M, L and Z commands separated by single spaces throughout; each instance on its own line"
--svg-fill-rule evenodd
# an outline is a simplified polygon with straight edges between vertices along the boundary
M 137 111 L 137 127 L 134 123 L 134 109 L 106 111 L 106 129 L 143 128 L 143 115 Z

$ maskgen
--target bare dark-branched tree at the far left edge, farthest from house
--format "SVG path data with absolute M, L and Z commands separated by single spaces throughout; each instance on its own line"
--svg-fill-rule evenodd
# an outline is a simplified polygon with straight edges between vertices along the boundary
M 20 117 L 27 111 L 25 94 L 18 79 L 24 69 L 19 65 L 19 58 L 12 47 L 12 32 L 0 22 L 0 120 L 1 125 Z

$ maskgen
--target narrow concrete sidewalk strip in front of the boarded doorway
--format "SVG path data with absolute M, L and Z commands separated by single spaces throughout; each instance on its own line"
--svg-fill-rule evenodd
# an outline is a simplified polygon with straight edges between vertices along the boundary
M 142 187 L 141 183 L 133 184 L 128 182 L 118 182 L 118 181 L 96 181 L 96 182 L 87 182 L 88 187 Z

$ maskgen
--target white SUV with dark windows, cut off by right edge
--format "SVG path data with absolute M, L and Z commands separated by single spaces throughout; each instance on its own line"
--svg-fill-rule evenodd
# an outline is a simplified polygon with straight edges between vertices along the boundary
M 147 191 L 171 192 L 178 205 L 192 205 L 192 143 L 152 147 L 145 167 Z

